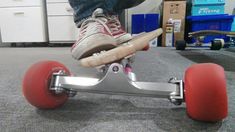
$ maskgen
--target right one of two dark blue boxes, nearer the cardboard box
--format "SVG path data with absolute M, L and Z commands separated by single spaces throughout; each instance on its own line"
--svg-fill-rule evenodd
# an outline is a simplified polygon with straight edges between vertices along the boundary
M 159 14 L 145 15 L 145 32 L 151 32 L 159 28 Z

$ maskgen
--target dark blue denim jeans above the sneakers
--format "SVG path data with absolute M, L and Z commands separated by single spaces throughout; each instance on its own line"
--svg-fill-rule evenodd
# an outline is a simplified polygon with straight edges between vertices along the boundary
M 134 7 L 144 0 L 69 0 L 74 10 L 74 22 L 80 26 L 82 21 L 90 17 L 97 8 L 102 8 L 105 14 L 118 15 L 124 9 Z

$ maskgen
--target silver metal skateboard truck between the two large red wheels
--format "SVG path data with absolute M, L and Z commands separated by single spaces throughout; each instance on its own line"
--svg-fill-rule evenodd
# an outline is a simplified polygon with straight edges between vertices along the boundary
M 169 83 L 139 82 L 135 80 L 134 73 L 125 72 L 124 66 L 118 63 L 111 64 L 101 79 L 67 76 L 61 70 L 53 74 L 49 89 L 56 94 L 66 92 L 69 96 L 74 96 L 76 92 L 89 92 L 168 98 L 175 105 L 180 105 L 184 100 L 182 80 L 172 78 Z

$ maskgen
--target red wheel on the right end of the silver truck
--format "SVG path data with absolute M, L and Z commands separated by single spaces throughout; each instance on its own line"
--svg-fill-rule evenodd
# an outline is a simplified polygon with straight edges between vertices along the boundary
M 224 69 L 217 64 L 196 64 L 185 73 L 188 115 L 199 121 L 215 122 L 227 117 L 228 102 Z

